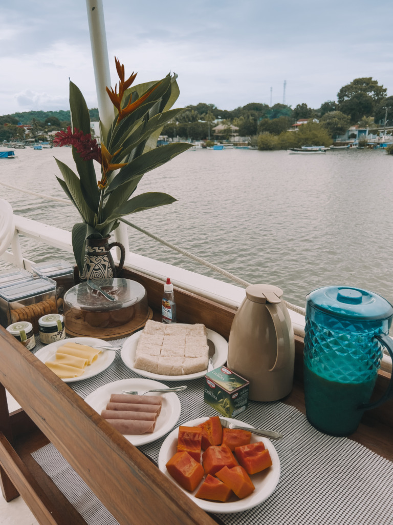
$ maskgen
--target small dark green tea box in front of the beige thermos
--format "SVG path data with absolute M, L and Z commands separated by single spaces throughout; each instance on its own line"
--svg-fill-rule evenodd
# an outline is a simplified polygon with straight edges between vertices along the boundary
M 205 374 L 203 400 L 226 417 L 235 417 L 248 405 L 249 382 L 226 366 Z

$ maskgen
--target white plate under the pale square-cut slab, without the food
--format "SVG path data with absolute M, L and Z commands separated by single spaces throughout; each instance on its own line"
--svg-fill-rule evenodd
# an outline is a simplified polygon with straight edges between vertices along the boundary
M 213 332 L 209 328 L 206 328 L 208 331 L 208 339 L 213 341 L 215 345 L 215 354 L 213 356 L 213 365 L 214 368 L 222 366 L 226 362 L 228 356 L 228 343 L 225 339 L 217 332 Z M 195 372 L 194 374 L 184 374 L 184 375 L 160 375 L 153 374 L 152 372 L 146 372 L 146 370 L 141 370 L 140 368 L 134 367 L 135 361 L 135 352 L 138 344 L 138 340 L 142 331 L 133 333 L 127 341 L 123 344 L 122 348 L 122 359 L 124 364 L 128 366 L 133 372 L 144 377 L 150 377 L 150 379 L 159 379 L 161 381 L 188 381 L 191 379 L 198 379 L 199 377 L 204 377 L 206 370 L 201 372 Z

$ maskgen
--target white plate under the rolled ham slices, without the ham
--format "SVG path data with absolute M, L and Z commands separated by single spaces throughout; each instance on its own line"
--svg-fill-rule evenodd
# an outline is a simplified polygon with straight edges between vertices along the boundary
M 158 381 L 151 381 L 150 379 L 121 379 L 100 386 L 100 388 L 97 388 L 97 390 L 94 390 L 94 392 L 85 398 L 85 402 L 101 414 L 110 400 L 111 394 L 121 394 L 122 390 L 149 390 L 149 388 L 169 388 L 169 386 Z M 149 394 L 145 395 L 148 396 Z M 160 395 L 160 393 L 151 392 L 150 395 Z M 162 408 L 160 415 L 157 417 L 154 432 L 141 435 L 125 434 L 124 437 L 136 446 L 151 443 L 159 437 L 165 436 L 165 434 L 176 425 L 180 417 L 180 412 L 181 404 L 177 394 L 174 392 L 169 392 L 168 394 L 163 393 Z

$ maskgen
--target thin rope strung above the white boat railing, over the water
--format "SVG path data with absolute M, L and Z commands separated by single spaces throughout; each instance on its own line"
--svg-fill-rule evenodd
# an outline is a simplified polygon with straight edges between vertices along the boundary
M 40 193 L 32 192 L 30 190 L 25 190 L 25 189 L 24 190 L 19 190 L 18 188 L 15 188 L 15 186 L 12 186 L 10 184 L 6 184 L 5 182 L 0 182 L 0 184 L 2 184 L 3 186 L 7 186 L 8 188 L 11 188 L 12 190 L 29 193 L 30 195 L 34 195 L 36 197 L 44 198 L 44 199 L 47 199 L 48 201 L 56 201 L 56 202 L 61 202 L 63 204 L 72 204 L 67 199 L 62 199 L 62 198 L 58 198 L 58 197 L 52 197 L 52 196 L 48 196 L 48 195 L 41 195 Z M 164 239 L 161 239 L 161 237 L 158 237 L 157 235 L 148 232 L 144 228 L 140 228 L 136 224 L 128 222 L 128 220 L 126 220 L 126 219 L 120 218 L 118 220 L 121 220 L 123 223 L 127 224 L 128 226 L 131 226 L 132 228 L 135 228 L 136 230 L 138 230 L 141 233 L 144 233 L 148 237 L 151 237 L 152 239 L 154 239 L 154 240 L 158 241 L 159 243 L 163 244 L 164 246 L 167 246 L 168 248 L 171 248 L 174 251 L 178 251 L 179 254 L 182 254 L 185 257 L 189 257 L 190 259 L 194 260 L 195 262 L 199 262 L 199 264 L 201 264 L 203 266 L 206 266 L 206 267 L 210 268 L 211 270 L 214 270 L 214 271 L 218 272 L 219 274 L 227 277 L 228 279 L 231 279 L 232 281 L 236 282 L 238 285 L 247 287 L 247 286 L 249 286 L 251 284 L 250 282 L 247 282 L 244 279 L 241 279 L 241 278 L 231 274 L 230 272 L 228 272 L 226 270 L 223 270 L 219 266 L 211 264 L 211 262 L 208 262 L 205 259 L 202 259 L 201 257 L 193 255 L 190 251 L 183 250 L 179 246 L 176 246 L 176 245 L 174 245 L 172 243 L 168 243 L 168 241 L 166 241 Z M 283 302 L 284 302 L 284 304 L 286 305 L 286 307 L 289 310 L 292 310 L 294 312 L 300 313 L 300 315 L 303 316 L 303 317 L 305 316 L 305 309 L 304 308 L 302 308 L 300 306 L 296 306 L 296 304 L 291 304 L 288 301 L 283 301 Z

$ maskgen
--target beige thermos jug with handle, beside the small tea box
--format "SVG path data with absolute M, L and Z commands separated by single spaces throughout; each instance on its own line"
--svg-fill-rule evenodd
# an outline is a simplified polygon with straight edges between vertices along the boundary
M 292 390 L 294 338 L 282 290 L 250 285 L 235 314 L 227 365 L 250 383 L 248 397 L 276 401 Z

